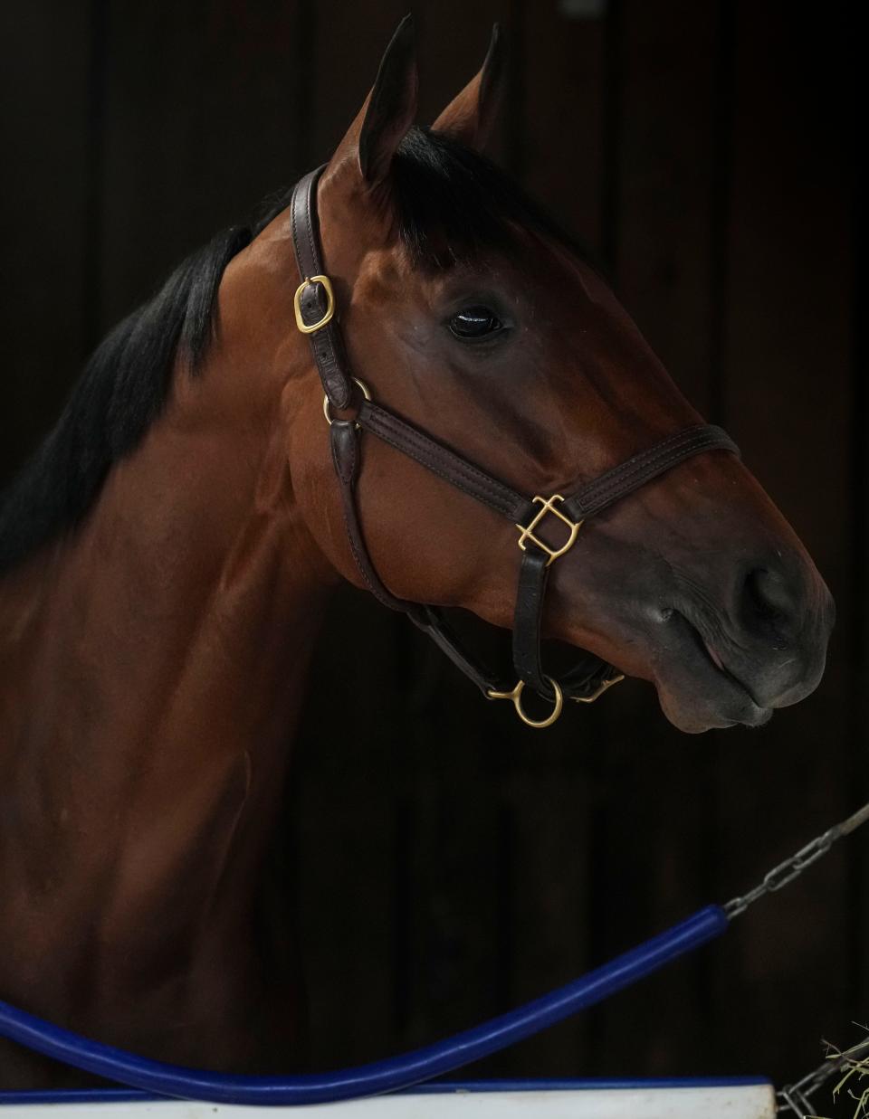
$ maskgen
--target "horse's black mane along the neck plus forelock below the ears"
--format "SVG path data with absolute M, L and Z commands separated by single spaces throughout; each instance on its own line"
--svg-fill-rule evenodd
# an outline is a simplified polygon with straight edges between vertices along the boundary
M 506 247 L 517 225 L 587 257 L 503 171 L 443 137 L 412 129 L 393 175 L 399 233 L 420 266 L 450 267 Z M 224 269 L 288 201 L 277 196 L 249 225 L 217 234 L 103 339 L 54 431 L 0 495 L 0 574 L 77 526 L 112 467 L 160 415 L 176 357 L 193 375 L 200 369 Z

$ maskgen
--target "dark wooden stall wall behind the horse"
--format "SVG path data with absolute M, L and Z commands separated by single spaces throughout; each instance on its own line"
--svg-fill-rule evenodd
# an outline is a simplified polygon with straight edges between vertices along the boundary
M 0 15 L 0 478 L 186 252 L 320 162 L 408 0 L 29 0 Z M 741 444 L 838 600 L 830 667 L 760 732 L 686 737 L 628 683 L 526 731 L 347 592 L 281 841 L 318 1066 L 431 1040 L 741 892 L 869 796 L 866 386 L 845 8 L 415 0 L 421 120 L 511 58 L 494 156 L 602 254 L 676 382 Z M 347 709 L 323 668 L 348 681 Z M 506 705 L 504 705 L 506 707 Z M 869 1018 L 869 847 L 723 941 L 489 1062 L 793 1079 Z M 820 1103 L 819 1103 L 820 1107 Z M 823 1111 L 823 1108 L 820 1108 Z

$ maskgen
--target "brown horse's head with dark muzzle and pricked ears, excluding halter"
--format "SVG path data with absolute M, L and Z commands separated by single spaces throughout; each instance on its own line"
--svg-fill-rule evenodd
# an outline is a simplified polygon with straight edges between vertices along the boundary
M 418 128 L 402 23 L 320 177 L 319 236 L 348 365 L 374 399 L 523 492 L 564 493 L 701 419 L 582 251 L 480 153 L 502 73 L 496 32 L 479 74 Z M 253 246 L 284 284 L 288 223 Z M 295 499 L 328 564 L 362 585 L 317 372 L 288 330 Z M 390 592 L 512 627 L 515 526 L 377 440 L 363 459 L 359 519 Z M 699 732 L 760 725 L 809 695 L 832 619 L 782 514 L 737 455 L 712 450 L 581 526 L 543 626 L 652 681 L 671 722 Z

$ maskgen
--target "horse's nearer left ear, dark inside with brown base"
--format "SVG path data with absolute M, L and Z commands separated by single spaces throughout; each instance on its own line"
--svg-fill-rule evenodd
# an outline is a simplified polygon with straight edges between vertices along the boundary
M 333 163 L 352 160 L 368 186 L 386 178 L 402 137 L 417 117 L 417 44 L 413 17 L 399 23 L 365 98 Z

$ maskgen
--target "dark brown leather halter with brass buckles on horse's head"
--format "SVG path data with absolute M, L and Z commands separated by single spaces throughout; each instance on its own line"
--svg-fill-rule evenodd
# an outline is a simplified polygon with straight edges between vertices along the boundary
M 579 703 L 592 703 L 608 687 L 624 678 L 610 665 L 591 655 L 580 659 L 560 680 L 543 671 L 540 657 L 541 624 L 551 565 L 573 546 L 582 523 L 614 501 L 694 454 L 713 450 L 739 454 L 739 450 L 720 427 L 701 424 L 669 435 L 648 450 L 587 482 L 567 498 L 560 493 L 529 498 L 382 404 L 374 403 L 367 387 L 347 369 L 336 318 L 335 294 L 323 266 L 317 222 L 317 181 L 321 171 L 320 167 L 297 182 L 290 203 L 292 239 L 301 278 L 293 298 L 293 310 L 297 327 L 310 340 L 326 394 L 324 412 L 329 423 L 331 457 L 356 566 L 371 593 L 384 606 L 407 613 L 477 685 L 487 699 L 510 699 L 529 726 L 550 726 L 561 714 L 564 697 Z M 353 420 L 333 419 L 333 408 L 344 411 L 352 404 L 357 404 Z M 518 529 L 522 563 L 513 624 L 513 662 L 518 681 L 514 687 L 505 687 L 467 652 L 437 608 L 395 598 L 380 579 L 365 545 L 356 505 L 363 431 L 376 435 L 464 493 L 510 518 Z M 559 546 L 550 545 L 542 538 L 544 521 L 550 523 L 548 528 L 560 528 L 562 543 Z M 534 721 L 525 714 L 522 692 L 526 685 L 553 704 L 546 718 Z

